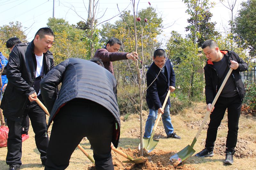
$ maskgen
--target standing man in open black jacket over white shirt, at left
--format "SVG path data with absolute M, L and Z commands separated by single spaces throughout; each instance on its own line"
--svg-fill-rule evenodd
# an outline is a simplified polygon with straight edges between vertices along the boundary
M 20 169 L 22 124 L 27 115 L 35 132 L 36 147 L 40 152 L 42 165 L 45 164 L 49 142 L 46 135 L 46 116 L 35 100 L 37 97 L 42 100 L 39 82 L 54 66 L 53 56 L 49 51 L 52 43 L 52 30 L 40 28 L 33 41 L 29 44 L 17 44 L 10 53 L 6 67 L 9 82 L 1 102 L 9 128 L 6 156 L 9 170 Z M 31 97 L 32 94 L 35 95 L 34 98 Z

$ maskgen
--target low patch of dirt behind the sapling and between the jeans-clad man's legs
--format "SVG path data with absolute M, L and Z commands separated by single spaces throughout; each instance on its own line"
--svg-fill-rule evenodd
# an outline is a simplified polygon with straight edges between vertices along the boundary
M 143 134 L 144 134 L 144 129 L 143 129 Z M 136 137 L 136 138 L 140 138 L 140 128 L 132 128 L 129 131 L 125 132 L 125 136 L 126 137 Z M 164 127 L 163 126 L 157 126 L 156 127 L 156 132 L 154 135 L 154 139 L 160 139 L 160 138 L 164 138 L 166 137 L 166 133 L 164 131 Z

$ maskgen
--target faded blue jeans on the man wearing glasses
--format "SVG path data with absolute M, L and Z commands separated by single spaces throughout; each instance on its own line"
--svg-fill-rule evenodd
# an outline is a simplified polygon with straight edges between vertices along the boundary
M 149 115 L 145 126 L 145 133 L 143 137 L 150 137 L 152 129 L 154 127 L 155 121 L 157 119 L 158 110 L 149 109 Z M 170 136 L 174 129 L 171 122 L 170 110 L 169 105 L 165 105 L 164 107 L 164 114 L 162 114 L 162 121 L 164 124 L 164 130 L 167 136 Z

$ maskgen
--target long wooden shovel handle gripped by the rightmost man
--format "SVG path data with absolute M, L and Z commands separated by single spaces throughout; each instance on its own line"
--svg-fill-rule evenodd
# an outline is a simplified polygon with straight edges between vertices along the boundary
M 221 93 L 223 87 L 225 86 L 225 84 L 226 84 L 226 82 L 227 82 L 227 80 L 228 80 L 228 78 L 229 78 L 229 76 L 230 76 L 232 70 L 233 70 L 233 69 L 231 69 L 231 68 L 229 69 L 229 71 L 228 71 L 228 73 L 227 73 L 225 79 L 223 80 L 223 82 L 222 82 L 222 84 L 221 84 L 221 86 L 220 86 L 219 91 L 217 92 L 217 94 L 216 94 L 214 100 L 212 101 L 212 105 L 211 105 L 210 111 L 207 111 L 207 112 L 206 112 L 206 115 L 204 116 L 204 120 L 203 120 L 203 122 L 202 122 L 200 128 L 199 128 L 198 131 L 197 131 L 197 134 L 196 134 L 196 137 L 195 137 L 196 139 L 198 138 L 199 134 L 201 133 L 202 129 L 204 128 L 204 124 L 205 124 L 205 122 L 207 121 L 208 117 L 210 116 L 211 110 L 212 110 L 212 108 L 214 107 L 216 101 L 218 100 L 218 98 L 219 98 L 219 96 L 220 96 L 220 93 Z

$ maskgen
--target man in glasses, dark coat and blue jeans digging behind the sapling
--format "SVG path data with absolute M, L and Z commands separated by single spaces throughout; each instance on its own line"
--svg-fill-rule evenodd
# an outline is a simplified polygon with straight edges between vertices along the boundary
M 144 137 L 150 137 L 157 115 L 158 113 L 162 113 L 164 130 L 167 137 L 180 139 L 180 136 L 174 133 L 172 126 L 169 110 L 171 103 L 169 97 L 167 104 L 164 109 L 162 109 L 168 90 L 170 89 L 171 92 L 174 92 L 175 90 L 175 74 L 172 69 L 172 64 L 170 60 L 166 58 L 163 49 L 156 49 L 154 51 L 153 60 L 154 62 L 147 71 L 148 89 L 146 100 L 149 108 L 149 115 L 145 126 Z

